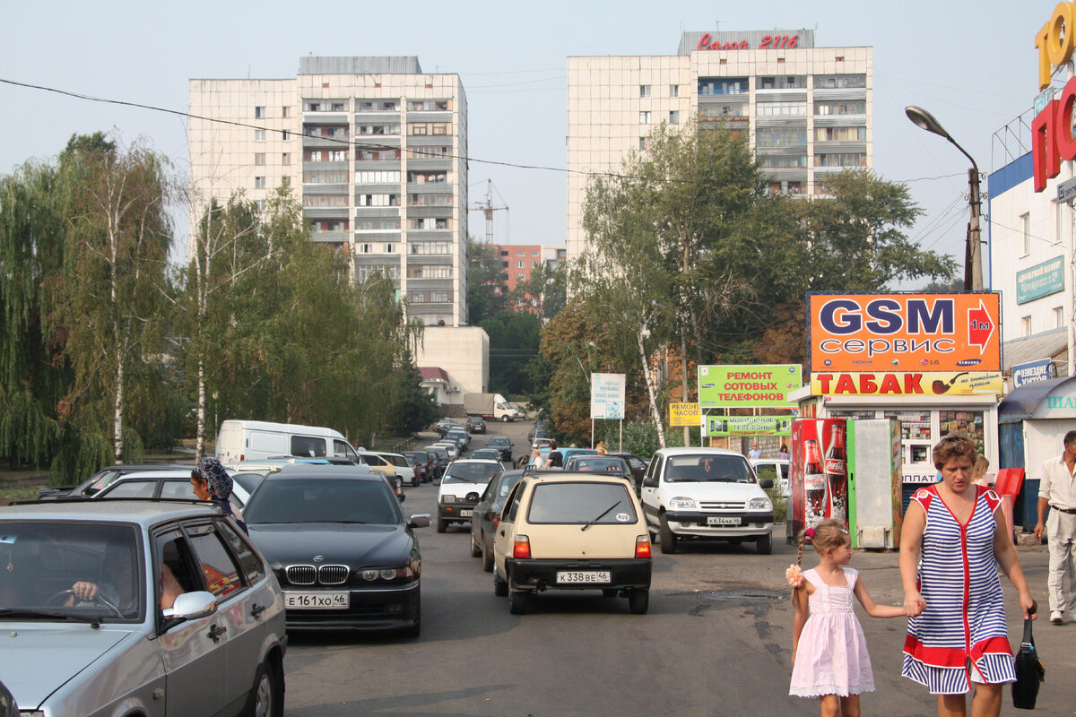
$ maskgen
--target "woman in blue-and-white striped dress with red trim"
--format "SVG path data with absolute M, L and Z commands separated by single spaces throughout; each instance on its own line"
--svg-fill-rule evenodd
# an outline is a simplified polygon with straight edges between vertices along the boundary
M 997 567 L 1032 605 L 1028 582 L 994 491 L 972 483 L 975 444 L 949 434 L 934 446 L 942 483 L 912 496 L 901 534 L 901 580 L 909 616 L 902 674 L 938 696 L 938 715 L 999 715 L 1002 685 L 1016 679 Z M 920 556 L 922 561 L 920 562 Z

